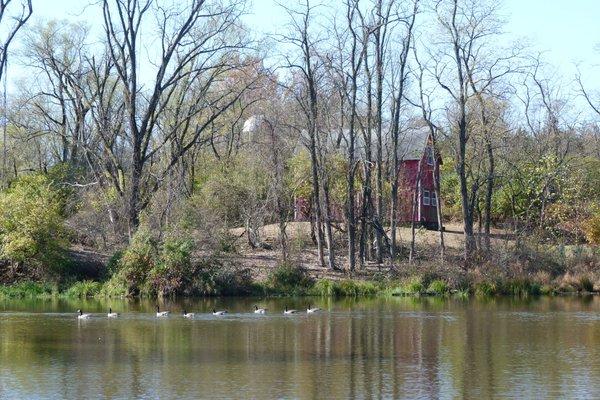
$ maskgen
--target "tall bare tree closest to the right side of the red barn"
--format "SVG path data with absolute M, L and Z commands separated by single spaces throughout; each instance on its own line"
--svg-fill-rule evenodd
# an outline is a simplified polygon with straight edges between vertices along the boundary
M 469 128 L 469 104 L 477 93 L 489 89 L 495 81 L 508 73 L 505 63 L 501 62 L 502 58 L 490 62 L 487 57 L 490 47 L 495 45 L 493 38 L 500 33 L 497 7 L 493 0 L 438 0 L 434 3 L 438 25 L 443 32 L 438 51 L 433 55 L 434 78 L 451 100 L 448 115 L 451 119 L 450 126 L 456 131 L 454 150 L 463 214 L 464 258 L 467 262 L 476 250 L 473 223 L 477 193 L 481 186 L 479 178 L 469 179 L 468 152 L 474 140 Z M 491 149 L 491 142 L 487 148 Z M 491 191 L 494 176 L 493 153 L 488 152 L 488 156 L 490 165 L 487 181 L 488 190 Z M 488 224 L 486 231 L 489 231 Z

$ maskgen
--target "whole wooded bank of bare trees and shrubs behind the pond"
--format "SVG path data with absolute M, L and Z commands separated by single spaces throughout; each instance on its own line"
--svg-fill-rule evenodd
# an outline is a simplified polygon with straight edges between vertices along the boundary
M 279 46 L 244 1 L 169 4 L 93 2 L 100 35 L 12 10 L 0 297 L 600 290 L 597 92 L 500 3 L 307 1 Z M 436 230 L 400 182 L 423 132 Z

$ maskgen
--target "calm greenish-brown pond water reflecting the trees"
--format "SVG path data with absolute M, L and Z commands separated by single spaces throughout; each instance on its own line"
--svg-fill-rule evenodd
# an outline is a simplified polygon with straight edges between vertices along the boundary
M 0 398 L 600 397 L 598 297 L 286 303 L 0 302 Z

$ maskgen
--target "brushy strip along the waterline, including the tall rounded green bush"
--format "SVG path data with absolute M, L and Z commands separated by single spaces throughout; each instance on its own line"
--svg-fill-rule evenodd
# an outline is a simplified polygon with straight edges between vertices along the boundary
M 314 279 L 298 262 L 282 263 L 262 281 L 256 271 L 227 257 L 193 259 L 191 242 L 171 238 L 158 244 L 143 231 L 110 259 L 98 281 L 70 286 L 21 282 L 0 286 L 0 298 L 34 297 L 201 297 L 201 296 L 539 296 L 600 292 L 600 264 L 591 256 L 569 265 L 521 249 L 494 254 L 463 268 L 458 256 L 443 265 L 421 260 L 370 278 Z

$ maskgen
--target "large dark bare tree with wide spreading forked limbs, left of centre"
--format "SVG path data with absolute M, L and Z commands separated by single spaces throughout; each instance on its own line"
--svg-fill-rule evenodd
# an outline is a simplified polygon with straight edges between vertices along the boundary
M 240 63 L 246 40 L 237 24 L 243 2 L 194 0 L 164 7 L 152 0 L 103 0 L 110 62 L 123 90 L 131 158 L 127 191 L 129 233 L 170 169 L 201 140 L 207 128 L 240 98 L 224 78 Z M 141 29 L 157 24 L 158 53 L 152 80 L 142 78 Z M 149 90 L 145 90 L 148 87 Z M 165 118 L 168 117 L 168 121 Z M 178 143 L 162 171 L 148 165 L 171 141 Z

